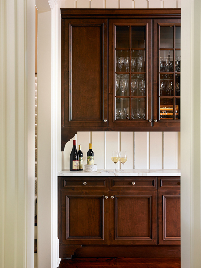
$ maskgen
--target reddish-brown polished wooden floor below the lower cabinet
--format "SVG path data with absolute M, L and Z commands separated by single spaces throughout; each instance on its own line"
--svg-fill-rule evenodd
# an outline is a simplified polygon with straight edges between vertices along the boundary
M 109 267 L 132 267 L 132 268 L 180 268 L 180 259 L 161 258 L 72 258 L 61 260 L 59 268 L 109 268 Z

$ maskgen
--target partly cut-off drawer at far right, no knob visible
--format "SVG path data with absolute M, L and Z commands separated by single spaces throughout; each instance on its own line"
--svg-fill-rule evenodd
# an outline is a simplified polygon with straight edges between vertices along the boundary
M 180 190 L 180 177 L 158 177 L 159 190 Z

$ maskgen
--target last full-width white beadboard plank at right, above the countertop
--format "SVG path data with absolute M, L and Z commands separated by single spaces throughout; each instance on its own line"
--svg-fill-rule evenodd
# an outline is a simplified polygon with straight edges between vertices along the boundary
M 164 132 L 164 168 L 177 168 L 177 132 Z

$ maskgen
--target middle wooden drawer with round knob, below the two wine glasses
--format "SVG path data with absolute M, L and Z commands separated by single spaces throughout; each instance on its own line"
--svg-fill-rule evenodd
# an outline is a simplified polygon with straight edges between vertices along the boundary
M 149 190 L 157 189 L 156 177 L 121 177 L 110 178 L 110 189 Z

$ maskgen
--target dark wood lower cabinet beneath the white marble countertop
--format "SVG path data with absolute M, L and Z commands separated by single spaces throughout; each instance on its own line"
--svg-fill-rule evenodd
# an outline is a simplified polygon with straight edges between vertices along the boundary
M 58 237 L 63 257 L 81 245 L 91 256 L 118 255 L 114 247 L 124 246 L 137 247 L 129 256 L 146 246 L 155 257 L 178 256 L 180 177 L 58 177 Z M 105 248 L 96 255 L 98 245 Z

